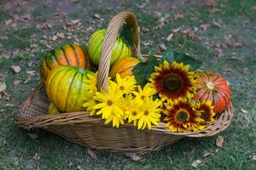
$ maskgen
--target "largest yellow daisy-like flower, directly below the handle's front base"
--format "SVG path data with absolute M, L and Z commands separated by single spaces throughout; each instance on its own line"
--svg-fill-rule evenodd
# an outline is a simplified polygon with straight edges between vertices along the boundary
M 116 84 L 109 84 L 108 93 L 104 90 L 96 92 L 93 99 L 97 103 L 93 109 L 97 110 L 96 115 L 102 115 L 102 118 L 106 119 L 105 124 L 111 121 L 113 127 L 119 127 L 119 123 L 124 124 L 125 99 Z

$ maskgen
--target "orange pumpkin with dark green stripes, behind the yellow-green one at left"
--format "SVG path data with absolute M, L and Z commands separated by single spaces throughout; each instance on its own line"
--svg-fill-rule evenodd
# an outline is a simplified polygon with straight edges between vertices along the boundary
M 55 48 L 44 56 L 41 61 L 41 80 L 46 82 L 50 71 L 59 65 L 73 65 L 90 70 L 90 58 L 78 44 L 65 44 Z

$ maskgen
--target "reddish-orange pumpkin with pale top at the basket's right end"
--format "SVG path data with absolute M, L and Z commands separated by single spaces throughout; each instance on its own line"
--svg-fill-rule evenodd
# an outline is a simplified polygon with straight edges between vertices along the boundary
M 214 105 L 213 111 L 218 114 L 230 104 L 230 98 L 230 87 L 224 77 L 214 72 L 207 72 L 198 77 L 195 100 L 210 99 Z

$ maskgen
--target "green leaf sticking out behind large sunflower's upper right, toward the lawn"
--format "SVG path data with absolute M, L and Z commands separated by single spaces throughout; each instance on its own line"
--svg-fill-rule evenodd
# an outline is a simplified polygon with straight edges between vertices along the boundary
M 201 65 L 201 61 L 190 57 L 189 55 L 178 53 L 174 51 L 174 60 L 178 63 L 183 62 L 185 65 L 190 65 L 189 70 L 195 71 Z

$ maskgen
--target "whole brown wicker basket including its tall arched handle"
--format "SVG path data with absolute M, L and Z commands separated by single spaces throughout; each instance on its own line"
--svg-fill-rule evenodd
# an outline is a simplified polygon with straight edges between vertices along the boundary
M 113 17 L 108 25 L 107 35 L 103 42 L 102 58 L 99 65 L 97 87 L 108 89 L 108 71 L 110 56 L 115 39 L 123 23 L 133 26 L 136 48 L 134 53 L 140 51 L 137 20 L 131 12 L 121 12 Z M 48 115 L 49 99 L 45 93 L 43 84 L 38 85 L 28 96 L 20 108 L 17 124 L 20 127 L 31 129 L 41 128 L 75 144 L 84 145 L 93 149 L 107 149 L 121 152 L 144 153 L 158 150 L 160 147 L 173 144 L 184 137 L 207 137 L 224 131 L 229 127 L 233 116 L 232 105 L 218 116 L 216 122 L 208 125 L 198 132 L 171 133 L 165 128 L 166 123 L 160 122 L 150 131 L 137 130 L 137 127 L 129 123 L 119 128 L 105 125 L 97 116 L 90 116 L 86 111 L 63 113 L 60 115 Z

